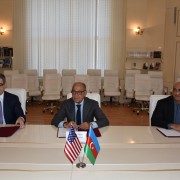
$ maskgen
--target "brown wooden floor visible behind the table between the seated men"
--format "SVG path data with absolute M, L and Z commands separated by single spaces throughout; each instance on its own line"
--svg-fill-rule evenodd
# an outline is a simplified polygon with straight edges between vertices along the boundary
M 33 103 L 27 105 L 27 124 L 50 124 L 54 114 L 42 112 L 44 105 Z M 147 112 L 137 115 L 127 105 L 102 105 L 102 110 L 112 126 L 146 126 L 149 125 Z

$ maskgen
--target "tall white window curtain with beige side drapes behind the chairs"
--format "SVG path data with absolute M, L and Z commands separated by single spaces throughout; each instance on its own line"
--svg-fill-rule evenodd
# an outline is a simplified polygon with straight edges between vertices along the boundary
M 123 0 L 16 0 L 16 69 L 120 68 L 123 54 Z

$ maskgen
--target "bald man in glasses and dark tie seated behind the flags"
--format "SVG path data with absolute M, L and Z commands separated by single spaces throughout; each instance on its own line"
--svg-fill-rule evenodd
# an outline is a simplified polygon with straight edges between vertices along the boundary
M 99 107 L 98 102 L 85 97 L 86 94 L 86 85 L 84 83 L 74 83 L 72 87 L 72 98 L 63 102 L 61 109 L 55 114 L 51 124 L 64 128 L 69 128 L 72 125 L 75 129 L 81 128 L 84 130 L 89 129 L 90 126 L 93 128 L 108 126 L 109 121 Z M 77 117 L 77 105 L 81 105 L 80 122 L 78 122 Z M 94 121 L 94 117 L 96 121 Z

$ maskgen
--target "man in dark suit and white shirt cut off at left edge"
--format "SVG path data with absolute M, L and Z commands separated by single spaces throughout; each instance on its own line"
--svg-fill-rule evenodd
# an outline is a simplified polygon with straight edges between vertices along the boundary
M 0 124 L 19 124 L 24 127 L 26 117 L 18 96 L 5 91 L 6 78 L 0 73 Z

